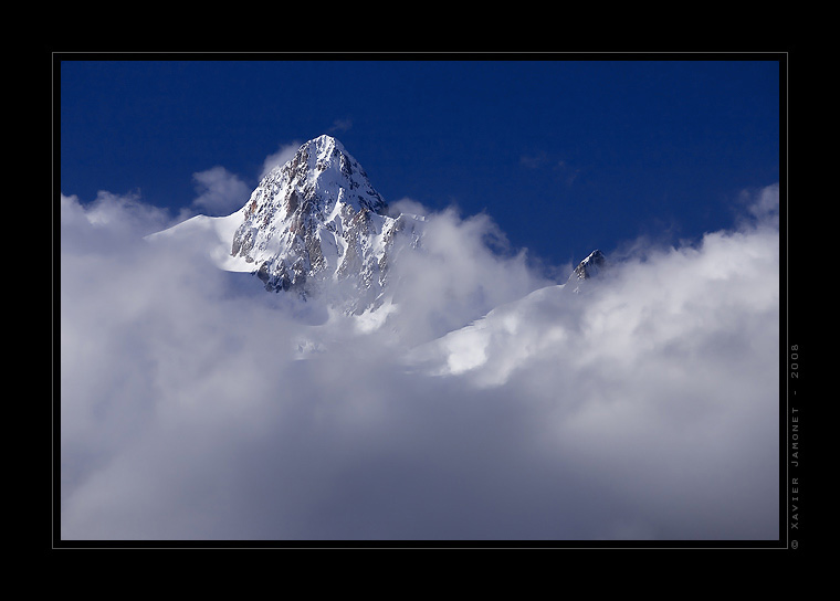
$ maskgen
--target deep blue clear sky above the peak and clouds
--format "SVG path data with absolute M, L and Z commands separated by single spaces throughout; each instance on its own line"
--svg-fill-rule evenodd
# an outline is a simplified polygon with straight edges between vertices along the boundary
M 559 265 L 731 226 L 743 190 L 779 181 L 776 55 L 116 57 L 61 62 L 60 187 L 82 202 L 139 191 L 177 214 L 193 173 L 222 166 L 253 188 L 281 145 L 328 133 L 386 200 L 486 211 Z

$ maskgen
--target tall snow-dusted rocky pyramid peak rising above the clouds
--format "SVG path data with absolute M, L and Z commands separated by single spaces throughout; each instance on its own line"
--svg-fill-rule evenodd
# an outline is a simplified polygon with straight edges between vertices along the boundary
M 335 138 L 321 136 L 253 191 L 231 255 L 253 263 L 270 291 L 307 297 L 323 292 L 326 281 L 340 283 L 330 291 L 360 313 L 381 302 L 398 239 L 417 244 L 421 235 L 422 218 L 391 218 L 386 210 L 356 159 Z

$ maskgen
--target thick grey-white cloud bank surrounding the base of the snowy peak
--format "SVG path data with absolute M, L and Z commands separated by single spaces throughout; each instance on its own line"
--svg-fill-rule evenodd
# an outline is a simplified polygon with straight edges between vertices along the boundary
M 371 325 L 63 197 L 61 536 L 777 539 L 778 188 L 749 198 L 582 294 L 430 214 Z

